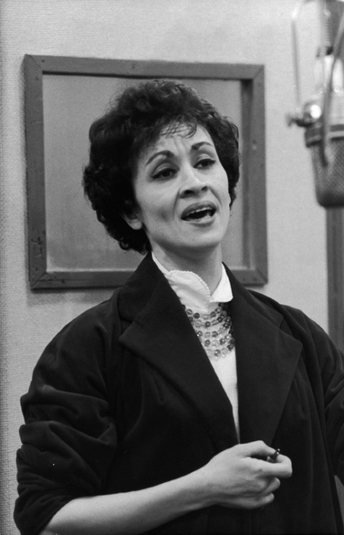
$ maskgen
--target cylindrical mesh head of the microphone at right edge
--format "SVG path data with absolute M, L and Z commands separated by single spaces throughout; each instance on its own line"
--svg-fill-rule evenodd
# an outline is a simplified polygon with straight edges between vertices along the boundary
M 311 149 L 316 198 L 325 208 L 344 206 L 344 121 L 328 127 L 316 122 L 305 131 L 306 147 Z

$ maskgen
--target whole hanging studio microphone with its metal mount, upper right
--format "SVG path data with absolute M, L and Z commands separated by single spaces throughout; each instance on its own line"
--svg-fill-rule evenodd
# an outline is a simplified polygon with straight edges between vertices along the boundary
M 293 57 L 297 110 L 288 125 L 306 128 L 306 147 L 311 151 L 316 199 L 324 208 L 344 206 L 344 70 L 340 54 L 344 41 L 344 1 L 318 0 L 321 45 L 316 54 L 316 93 L 301 105 L 296 21 L 301 0 L 293 12 Z M 343 54 L 342 54 L 343 55 Z

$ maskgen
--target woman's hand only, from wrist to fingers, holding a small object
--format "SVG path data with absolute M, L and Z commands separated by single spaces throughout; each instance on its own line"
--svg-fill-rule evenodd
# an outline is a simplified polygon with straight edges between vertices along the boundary
M 239 444 L 217 454 L 199 470 L 209 505 L 256 509 L 273 501 L 280 479 L 291 477 L 291 460 L 264 442 Z

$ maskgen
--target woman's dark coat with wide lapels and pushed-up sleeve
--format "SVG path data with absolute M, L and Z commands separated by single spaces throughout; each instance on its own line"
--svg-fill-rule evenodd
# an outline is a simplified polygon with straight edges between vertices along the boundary
M 343 533 L 334 479 L 344 481 L 343 358 L 302 312 L 229 277 L 241 442 L 280 448 L 293 475 L 264 509 L 212 506 L 152 532 Z M 70 499 L 174 479 L 237 443 L 231 403 L 149 255 L 54 338 L 21 401 L 15 519 L 24 535 Z

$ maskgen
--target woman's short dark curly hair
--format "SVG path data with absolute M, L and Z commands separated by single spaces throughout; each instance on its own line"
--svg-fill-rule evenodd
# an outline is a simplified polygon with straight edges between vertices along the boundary
M 157 141 L 162 129 L 188 127 L 192 136 L 203 126 L 212 137 L 228 177 L 231 204 L 239 180 L 238 129 L 200 98 L 194 89 L 171 80 L 153 80 L 132 86 L 116 99 L 107 113 L 90 127 L 90 161 L 83 188 L 98 220 L 123 249 L 150 250 L 145 230 L 133 230 L 123 214 L 135 208 L 132 184 L 137 158 Z

